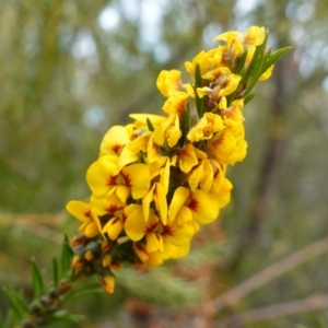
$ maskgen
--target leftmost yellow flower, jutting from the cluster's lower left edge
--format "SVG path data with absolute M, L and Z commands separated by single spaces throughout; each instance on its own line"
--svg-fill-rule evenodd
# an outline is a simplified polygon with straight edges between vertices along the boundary
M 87 238 L 99 234 L 99 229 L 91 213 L 91 204 L 80 200 L 71 200 L 67 203 L 66 210 L 82 222 L 79 231 Z

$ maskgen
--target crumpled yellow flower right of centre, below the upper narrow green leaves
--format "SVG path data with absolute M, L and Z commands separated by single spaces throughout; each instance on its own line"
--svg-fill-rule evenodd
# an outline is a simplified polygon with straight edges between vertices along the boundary
M 203 117 L 192 127 L 187 134 L 187 139 L 191 142 L 199 140 L 208 140 L 213 133 L 223 130 L 224 125 L 220 115 L 206 113 Z

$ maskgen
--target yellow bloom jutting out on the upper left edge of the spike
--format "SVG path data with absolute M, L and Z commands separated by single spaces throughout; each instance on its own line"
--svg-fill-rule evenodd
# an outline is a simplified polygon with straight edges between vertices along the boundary
M 156 85 L 165 97 L 168 97 L 174 93 L 181 91 L 181 72 L 178 70 L 161 71 L 156 81 Z

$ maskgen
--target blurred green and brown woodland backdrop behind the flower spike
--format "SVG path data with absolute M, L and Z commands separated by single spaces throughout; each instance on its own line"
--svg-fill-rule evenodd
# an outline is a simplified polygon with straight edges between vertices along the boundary
M 72 302 L 86 318 L 61 327 L 328 327 L 327 16 L 326 0 L 2 0 L 0 285 L 28 297 L 32 256 L 50 274 L 78 227 L 65 204 L 89 196 L 85 171 L 112 125 L 160 113 L 162 69 L 263 25 L 270 46 L 293 50 L 245 108 L 248 156 L 227 174 L 221 220 L 178 263 L 122 269 L 114 295 Z

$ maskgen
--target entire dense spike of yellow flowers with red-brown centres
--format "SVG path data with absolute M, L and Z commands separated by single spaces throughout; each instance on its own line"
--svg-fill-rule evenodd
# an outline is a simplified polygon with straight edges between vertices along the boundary
M 263 27 L 214 40 L 222 44 L 185 62 L 190 82 L 178 70 L 160 73 L 164 116 L 131 114 L 131 124 L 107 131 L 86 172 L 90 201 L 67 204 L 84 239 L 103 238 L 101 266 L 109 273 L 99 276 L 108 291 L 110 269 L 122 261 L 160 266 L 186 256 L 200 226 L 230 202 L 226 167 L 243 161 L 247 149 L 243 107 L 276 59 L 265 54 Z M 86 248 L 73 267 L 93 260 Z

